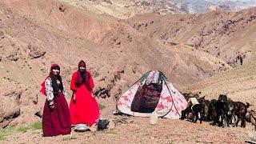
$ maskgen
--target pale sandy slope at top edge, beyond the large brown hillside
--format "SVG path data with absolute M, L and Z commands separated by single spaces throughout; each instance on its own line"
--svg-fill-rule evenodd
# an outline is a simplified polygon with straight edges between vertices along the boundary
M 95 14 L 109 14 L 114 18 L 132 18 L 136 14 L 186 14 L 168 0 L 60 0 Z

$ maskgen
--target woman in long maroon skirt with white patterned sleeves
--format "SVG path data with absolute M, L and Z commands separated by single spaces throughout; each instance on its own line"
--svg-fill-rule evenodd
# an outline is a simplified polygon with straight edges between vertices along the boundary
M 70 110 L 65 99 L 65 88 L 60 74 L 60 67 L 53 64 L 50 74 L 42 82 L 42 94 L 46 103 L 42 114 L 42 132 L 44 137 L 70 134 Z

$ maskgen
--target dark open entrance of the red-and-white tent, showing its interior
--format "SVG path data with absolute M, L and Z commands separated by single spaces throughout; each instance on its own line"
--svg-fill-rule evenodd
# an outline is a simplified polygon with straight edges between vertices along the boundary
M 160 83 L 144 84 L 134 95 L 130 110 L 139 113 L 152 113 L 160 99 L 162 81 Z

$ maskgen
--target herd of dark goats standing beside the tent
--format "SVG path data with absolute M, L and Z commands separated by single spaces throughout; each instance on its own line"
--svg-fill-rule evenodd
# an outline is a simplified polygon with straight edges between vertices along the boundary
M 192 95 L 192 96 L 191 96 Z M 184 94 L 188 101 L 188 106 L 182 110 L 181 119 L 187 118 L 192 122 L 200 123 L 202 121 L 210 122 L 215 126 L 238 126 L 241 121 L 241 127 L 246 127 L 246 121 L 251 122 L 256 130 L 256 112 L 254 110 L 247 110 L 250 104 L 248 102 L 234 102 L 227 98 L 225 94 L 220 94 L 217 99 L 206 100 L 205 97 L 199 98 L 198 94 Z M 191 101 L 192 100 L 192 101 Z M 194 101 L 193 101 L 194 100 Z M 234 121 L 233 121 L 234 120 Z

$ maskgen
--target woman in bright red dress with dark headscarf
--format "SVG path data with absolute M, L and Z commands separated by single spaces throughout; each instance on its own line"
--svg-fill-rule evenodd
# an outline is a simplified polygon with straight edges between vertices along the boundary
M 78 70 L 72 74 L 70 89 L 73 91 L 70 99 L 71 124 L 87 124 L 92 126 L 99 118 L 98 102 L 93 97 L 94 80 L 86 70 L 86 63 L 80 61 Z

